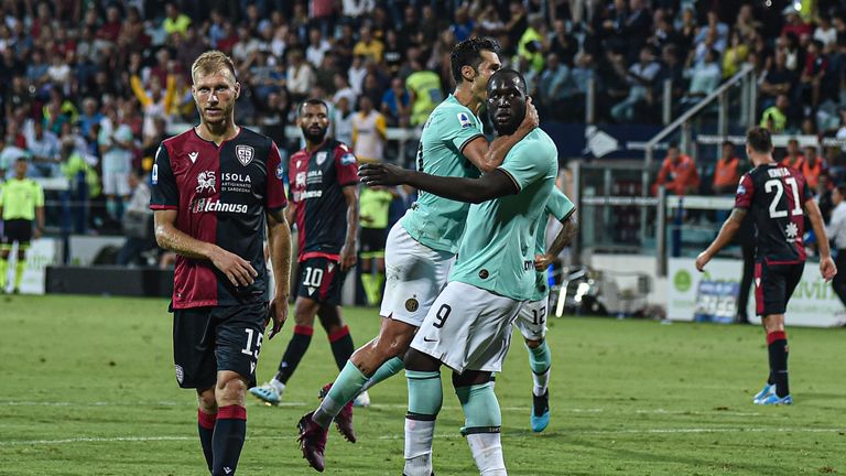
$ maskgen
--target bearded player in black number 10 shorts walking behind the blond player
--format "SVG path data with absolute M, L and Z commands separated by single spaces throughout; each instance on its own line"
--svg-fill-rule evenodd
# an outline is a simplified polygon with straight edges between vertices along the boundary
M 299 125 L 306 145 L 291 155 L 288 170 L 288 218 L 299 230 L 296 326 L 276 375 L 250 389 L 270 404 L 281 401 L 288 380 L 308 349 L 315 315 L 326 329 L 338 369 L 355 350 L 339 304 L 346 273 L 356 263 L 358 161 L 347 144 L 326 137 L 328 107 L 322 100 L 308 99 L 300 106 Z M 351 420 L 351 408 L 345 411 Z

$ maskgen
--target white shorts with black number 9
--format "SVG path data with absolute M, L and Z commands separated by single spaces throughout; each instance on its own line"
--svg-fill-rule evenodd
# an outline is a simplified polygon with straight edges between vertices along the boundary
M 457 372 L 500 371 L 522 301 L 453 281 L 437 296 L 411 347 Z

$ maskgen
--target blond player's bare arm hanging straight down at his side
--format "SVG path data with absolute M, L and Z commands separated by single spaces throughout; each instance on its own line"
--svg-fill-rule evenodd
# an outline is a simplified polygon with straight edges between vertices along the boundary
M 273 299 L 268 309 L 269 317 L 273 320 L 273 328 L 268 338 L 273 338 L 288 320 L 288 296 L 291 292 L 291 227 L 288 225 L 285 215 L 285 210 L 282 209 L 267 213 L 270 266 L 273 267 L 275 281 Z

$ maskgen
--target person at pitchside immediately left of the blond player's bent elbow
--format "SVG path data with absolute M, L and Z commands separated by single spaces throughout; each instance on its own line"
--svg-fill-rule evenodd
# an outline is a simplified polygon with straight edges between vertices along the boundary
M 118 251 L 119 266 L 143 266 L 142 253 L 155 244 L 153 242 L 153 214 L 150 210 L 150 187 L 138 171 L 129 172 L 129 188 L 132 198 L 123 212 L 122 228 L 127 240 Z

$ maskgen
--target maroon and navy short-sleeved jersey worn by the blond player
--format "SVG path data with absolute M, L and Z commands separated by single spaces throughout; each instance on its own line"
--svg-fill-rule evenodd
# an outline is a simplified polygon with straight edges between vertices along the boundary
M 153 210 L 175 209 L 176 228 L 250 262 L 251 285 L 235 286 L 208 260 L 176 258 L 173 309 L 267 301 L 265 212 L 288 205 L 276 144 L 241 128 L 220 145 L 191 130 L 165 140 L 152 171 Z

